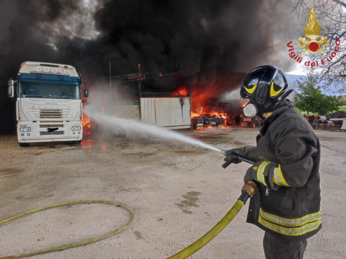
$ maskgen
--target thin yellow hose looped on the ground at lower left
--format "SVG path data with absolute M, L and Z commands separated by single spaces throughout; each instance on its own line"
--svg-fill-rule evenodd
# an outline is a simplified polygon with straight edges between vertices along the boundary
M 84 246 L 90 243 L 95 243 L 98 242 L 100 240 L 103 240 L 105 238 L 114 236 L 116 234 L 119 234 L 120 232 L 122 232 L 123 230 L 125 230 L 126 228 L 128 228 L 130 226 L 130 224 L 133 222 L 133 220 L 135 219 L 136 213 L 135 211 L 130 208 L 129 206 L 123 204 L 123 203 L 118 203 L 118 202 L 112 202 L 112 201 L 103 201 L 103 200 L 96 200 L 96 201 L 75 201 L 75 202 L 64 202 L 64 203 L 59 203 L 59 204 L 54 204 L 54 205 L 50 205 L 50 206 L 45 206 L 45 207 L 41 207 L 41 208 L 37 208 L 31 211 L 27 211 L 24 212 L 22 214 L 18 214 L 15 216 L 11 216 L 5 219 L 2 219 L 0 221 L 0 225 L 3 223 L 6 223 L 8 221 L 11 221 L 13 219 L 19 218 L 19 217 L 23 217 L 23 216 L 27 216 L 29 214 L 33 214 L 33 213 L 37 213 L 37 212 L 41 212 L 41 211 L 45 211 L 45 210 L 49 210 L 49 209 L 53 209 L 53 208 L 58 208 L 58 207 L 63 207 L 63 206 L 69 206 L 69 205 L 77 205 L 77 204 L 95 204 L 95 203 L 101 203 L 101 204 L 111 204 L 111 205 L 116 205 L 117 207 L 121 207 L 125 210 L 127 210 L 130 215 L 130 221 L 124 225 L 123 227 L 113 230 L 111 232 L 108 232 L 106 234 L 97 236 L 97 237 L 92 237 L 86 240 L 82 240 L 79 242 L 75 242 L 75 243 L 71 243 L 71 244 L 66 244 L 66 245 L 61 245 L 61 246 L 55 246 L 55 247 L 49 247 L 49 248 L 44 248 L 44 249 L 40 249 L 40 250 L 36 250 L 36 251 L 32 251 L 32 252 L 27 252 L 27 253 L 21 253 L 21 254 L 16 254 L 16 255 L 11 255 L 11 256 L 5 256 L 5 257 L 0 257 L 0 259 L 12 259 L 12 258 L 22 258 L 22 257 L 31 257 L 31 256 L 36 256 L 36 255 L 41 255 L 41 254 L 45 254 L 45 253 L 50 253 L 50 252 L 56 252 L 56 251 L 61 251 L 61 250 L 65 250 L 65 249 L 69 249 L 69 248 L 73 248 L 73 247 L 79 247 L 79 246 Z

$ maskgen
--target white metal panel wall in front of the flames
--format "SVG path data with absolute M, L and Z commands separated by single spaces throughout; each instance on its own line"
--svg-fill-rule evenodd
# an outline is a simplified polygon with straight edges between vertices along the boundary
M 145 123 L 168 129 L 191 128 L 190 97 L 140 98 Z

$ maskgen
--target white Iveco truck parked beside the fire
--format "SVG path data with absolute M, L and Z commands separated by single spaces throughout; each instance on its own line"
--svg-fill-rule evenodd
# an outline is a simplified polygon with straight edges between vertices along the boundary
M 83 138 L 82 76 L 70 65 L 26 61 L 16 79 L 8 81 L 8 96 L 16 99 L 19 146 L 32 142 Z M 84 97 L 88 97 L 84 89 Z M 55 107 L 53 107 L 54 105 Z

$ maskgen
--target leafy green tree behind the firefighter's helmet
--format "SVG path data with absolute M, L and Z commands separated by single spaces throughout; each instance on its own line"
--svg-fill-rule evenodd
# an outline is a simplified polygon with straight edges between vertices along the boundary
M 305 80 L 298 81 L 299 92 L 293 97 L 295 107 L 301 112 L 318 115 L 339 110 L 343 105 L 342 97 L 323 94 L 317 82 L 318 77 L 311 74 Z

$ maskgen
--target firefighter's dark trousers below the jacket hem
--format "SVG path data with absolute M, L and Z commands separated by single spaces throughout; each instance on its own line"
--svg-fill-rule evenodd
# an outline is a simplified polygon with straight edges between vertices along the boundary
M 265 232 L 263 249 L 265 259 L 303 259 L 307 241 L 291 241 Z

